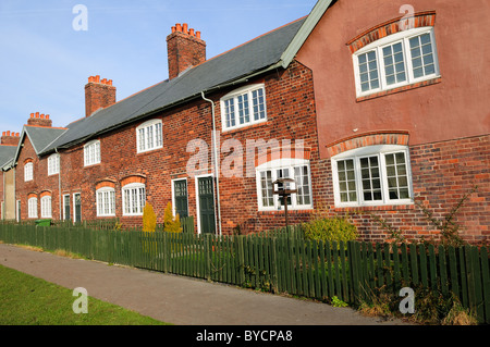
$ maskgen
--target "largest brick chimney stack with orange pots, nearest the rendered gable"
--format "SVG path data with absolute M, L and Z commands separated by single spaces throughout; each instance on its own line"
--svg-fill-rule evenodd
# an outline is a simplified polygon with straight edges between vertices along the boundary
M 206 61 L 206 42 L 200 38 L 200 32 L 188 29 L 186 23 L 175 24 L 172 34 L 167 36 L 167 52 L 169 79 L 173 79 L 186 69 Z

